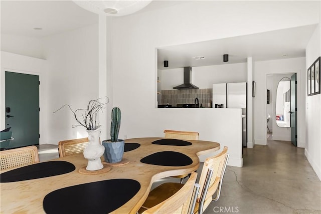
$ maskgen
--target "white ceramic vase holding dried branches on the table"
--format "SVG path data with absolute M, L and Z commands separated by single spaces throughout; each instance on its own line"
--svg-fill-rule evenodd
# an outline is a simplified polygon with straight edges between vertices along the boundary
M 105 147 L 101 145 L 99 136 L 101 134 L 100 128 L 95 130 L 86 130 L 88 132 L 88 139 L 90 144 L 84 150 L 84 157 L 88 159 L 86 169 L 89 171 L 102 169 L 104 166 L 101 163 L 100 157 L 105 151 Z

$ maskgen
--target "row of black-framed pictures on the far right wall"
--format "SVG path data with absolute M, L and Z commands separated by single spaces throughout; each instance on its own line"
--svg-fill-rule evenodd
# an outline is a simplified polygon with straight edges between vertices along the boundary
M 320 93 L 320 57 L 307 69 L 307 96 Z

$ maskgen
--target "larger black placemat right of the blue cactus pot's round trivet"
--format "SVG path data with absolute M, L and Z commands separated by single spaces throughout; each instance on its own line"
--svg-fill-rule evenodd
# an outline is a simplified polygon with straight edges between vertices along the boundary
M 161 151 L 142 158 L 140 162 L 159 166 L 187 166 L 192 164 L 193 160 L 180 152 Z

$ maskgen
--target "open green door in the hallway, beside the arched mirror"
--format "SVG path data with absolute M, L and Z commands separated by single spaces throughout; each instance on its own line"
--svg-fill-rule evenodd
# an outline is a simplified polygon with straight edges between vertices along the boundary
M 291 114 L 291 142 L 296 146 L 296 74 L 291 76 L 291 100 L 290 100 L 290 114 Z

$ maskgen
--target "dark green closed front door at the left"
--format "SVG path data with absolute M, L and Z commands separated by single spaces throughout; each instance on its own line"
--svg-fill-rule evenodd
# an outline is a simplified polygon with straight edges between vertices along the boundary
M 8 72 L 6 78 L 6 128 L 12 137 L 7 148 L 39 144 L 39 76 Z

